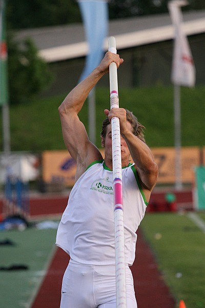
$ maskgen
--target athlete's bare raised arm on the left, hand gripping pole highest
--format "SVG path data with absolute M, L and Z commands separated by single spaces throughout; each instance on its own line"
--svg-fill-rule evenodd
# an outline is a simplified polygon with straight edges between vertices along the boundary
M 67 95 L 58 108 L 65 145 L 77 163 L 76 180 L 91 162 L 102 158 L 99 150 L 90 142 L 78 113 L 91 89 L 109 71 L 111 62 L 119 67 L 123 60 L 118 54 L 107 52 L 101 63 Z

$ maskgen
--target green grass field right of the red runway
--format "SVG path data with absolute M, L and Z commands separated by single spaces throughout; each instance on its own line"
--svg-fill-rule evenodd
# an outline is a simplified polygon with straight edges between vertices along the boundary
M 183 299 L 187 308 L 205 307 L 205 235 L 201 230 L 179 214 L 147 214 L 140 226 L 177 302 Z

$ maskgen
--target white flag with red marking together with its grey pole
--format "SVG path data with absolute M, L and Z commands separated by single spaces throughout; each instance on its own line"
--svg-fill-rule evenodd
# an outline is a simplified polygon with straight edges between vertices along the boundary
M 186 5 L 188 5 L 187 0 L 172 0 L 168 3 L 175 32 L 171 79 L 174 84 L 175 187 L 177 190 L 182 188 L 180 86 L 195 85 L 194 61 L 189 42 L 182 29 L 183 16 L 180 7 Z

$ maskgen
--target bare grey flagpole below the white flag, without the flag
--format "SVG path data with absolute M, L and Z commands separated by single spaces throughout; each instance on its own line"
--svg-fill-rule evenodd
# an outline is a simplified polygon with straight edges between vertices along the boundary
M 181 106 L 180 86 L 174 85 L 174 126 L 175 126 L 175 188 L 180 190 L 181 183 Z

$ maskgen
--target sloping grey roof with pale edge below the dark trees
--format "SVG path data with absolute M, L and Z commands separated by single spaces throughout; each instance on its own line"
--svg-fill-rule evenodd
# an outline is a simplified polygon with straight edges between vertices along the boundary
M 183 12 L 183 30 L 187 36 L 205 33 L 205 10 Z M 115 36 L 117 50 L 172 40 L 174 28 L 169 14 L 137 16 L 109 21 L 109 36 Z M 39 55 L 47 62 L 58 62 L 86 56 L 83 24 L 69 24 L 21 30 L 17 40 L 31 37 L 39 49 Z M 104 42 L 108 49 L 107 39 Z

